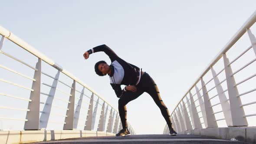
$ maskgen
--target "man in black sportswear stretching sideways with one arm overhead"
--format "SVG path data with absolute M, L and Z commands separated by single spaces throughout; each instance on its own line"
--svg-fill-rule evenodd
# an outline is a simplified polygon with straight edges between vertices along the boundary
M 144 92 L 147 92 L 160 108 L 170 130 L 169 135 L 177 135 L 177 132 L 172 127 L 169 111 L 160 97 L 158 87 L 148 73 L 143 72 L 142 69 L 135 65 L 125 62 L 106 45 L 89 49 L 83 56 L 85 59 L 88 59 L 89 55 L 95 52 L 105 52 L 112 62 L 111 65 L 108 65 L 105 61 L 99 61 L 95 64 L 94 68 L 99 76 L 109 75 L 110 85 L 115 90 L 117 97 L 120 98 L 118 100 L 118 110 L 123 129 L 115 136 L 131 135 L 127 126 L 126 104 L 138 98 Z M 126 86 L 124 89 L 121 89 L 121 85 Z

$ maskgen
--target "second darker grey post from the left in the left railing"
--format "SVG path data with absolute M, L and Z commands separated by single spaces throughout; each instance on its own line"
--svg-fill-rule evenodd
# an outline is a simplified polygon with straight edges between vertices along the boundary
M 71 92 L 69 96 L 70 103 L 68 104 L 68 109 L 66 111 L 67 117 L 65 117 L 65 123 L 63 126 L 63 130 L 73 130 L 74 124 L 74 108 L 75 108 L 75 80 L 72 84 Z

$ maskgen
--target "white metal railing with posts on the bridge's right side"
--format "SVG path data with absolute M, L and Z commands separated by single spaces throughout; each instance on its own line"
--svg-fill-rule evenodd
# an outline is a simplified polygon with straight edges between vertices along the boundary
M 246 75 L 246 79 L 242 79 L 240 82 L 235 81 L 235 78 L 239 78 L 239 75 L 236 77 L 237 74 L 242 72 L 243 69 L 248 68 L 249 65 L 252 65 L 256 61 L 256 38 L 250 29 L 255 22 L 256 11 L 236 32 L 226 46 L 223 47 L 212 62 L 210 62 L 207 68 L 178 102 L 174 111 L 171 112 L 171 120 L 174 129 L 177 130 L 177 132 L 198 128 L 214 128 L 219 127 L 219 125 L 223 123 L 229 127 L 248 126 L 248 117 L 256 116 L 256 111 L 250 111 L 253 112 L 253 114 L 249 115 L 246 115 L 244 111 L 245 106 L 256 104 L 255 94 L 254 97 L 249 98 L 249 102 L 244 104 L 240 99 L 241 96 L 256 91 L 256 88 L 249 91 L 247 90 L 243 93 L 240 93 L 238 88 L 238 86 L 244 82 L 248 82 L 250 79 L 253 79 L 256 76 L 256 73 L 253 75 L 244 74 Z M 227 58 L 227 53 L 230 52 L 229 49 L 231 49 L 245 33 L 249 37 L 250 46 L 243 52 L 240 52 L 240 54 L 230 62 Z M 252 55 L 254 58 L 242 63 L 243 65 L 233 72 L 231 67 L 236 66 L 237 60 L 241 59 L 248 53 L 253 53 Z M 222 63 L 222 65 L 224 65 L 224 68 L 222 67 L 219 72 L 215 72 L 214 70 L 214 67 L 217 67 L 217 63 Z M 207 74 L 211 74 L 212 77 L 207 82 L 204 82 Z M 225 74 L 225 78 L 220 80 L 220 75 L 222 74 Z M 197 86 L 199 86 L 200 89 L 197 88 Z M 192 94 L 194 92 L 195 94 Z M 217 94 L 214 92 L 217 92 Z M 220 114 L 223 115 L 222 118 L 219 116 Z M 168 133 L 169 128 L 166 125 L 164 128 L 164 134 Z

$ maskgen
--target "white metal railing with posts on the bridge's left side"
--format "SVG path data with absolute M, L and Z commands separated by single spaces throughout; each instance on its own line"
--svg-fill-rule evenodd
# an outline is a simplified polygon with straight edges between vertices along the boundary
M 25 121 L 24 130 L 38 130 L 41 128 L 52 129 L 48 127 L 49 123 L 63 124 L 63 130 L 72 130 L 78 128 L 79 121 L 80 123 L 81 121 L 83 123 L 83 130 L 107 131 L 110 133 L 117 133 L 121 129 L 121 121 L 118 111 L 113 108 L 112 105 L 110 105 L 108 102 L 106 102 L 102 97 L 100 97 L 94 90 L 92 90 L 92 88 L 89 88 L 88 85 L 85 85 L 81 80 L 73 76 L 66 69 L 63 69 L 52 59 L 49 59 L 47 56 L 34 49 L 28 43 L 24 42 L 22 39 L 18 38 L 2 26 L 0 26 L 0 35 L 2 35 L 0 41 L 0 54 L 3 54 L 4 56 L 7 56 L 14 61 L 26 65 L 26 67 L 34 70 L 34 77 L 32 78 L 28 75 L 23 74 L 22 72 L 14 70 L 13 68 L 11 68 L 11 66 L 6 66 L 7 63 L 4 64 L 4 62 L 6 61 L 0 60 L 0 69 L 5 69 L 5 72 L 19 75 L 23 78 L 31 80 L 32 82 L 32 87 L 30 88 L 24 86 L 23 84 L 18 84 L 19 82 L 15 83 L 9 81 L 8 77 L 0 78 L 0 82 L 14 85 L 16 87 L 30 91 L 30 98 L 23 98 L 21 95 L 16 96 L 7 94 L 5 92 L 0 92 L 0 98 L 6 97 L 28 101 L 28 105 L 26 105 L 27 108 L 0 106 L 0 109 L 26 111 L 26 118 L 7 118 L 5 116 L 2 117 L 3 114 L 0 113 L 0 120 Z M 30 52 L 31 54 L 36 56 L 36 58 L 38 59 L 36 62 L 36 66 L 33 67 L 32 65 L 24 62 L 23 60 L 12 56 L 12 54 L 4 52 L 4 41 L 6 39 L 10 40 L 17 46 L 25 49 L 27 52 Z M 30 54 L 28 53 L 27 55 Z M 46 64 L 52 66 L 56 71 L 56 76 L 52 76 L 47 72 L 42 72 L 42 62 L 46 62 Z M 52 85 L 49 84 L 49 82 L 42 82 L 42 74 L 45 75 L 47 78 L 53 79 Z M 68 82 L 60 80 L 60 74 L 65 74 L 66 78 L 71 79 L 73 82 L 72 85 L 69 85 Z M 59 85 L 57 85 L 58 83 L 62 83 L 66 87 L 59 88 Z M 49 92 L 43 91 L 42 85 L 48 88 Z M 78 86 L 82 87 L 82 90 L 78 90 Z M 71 92 L 66 92 L 67 89 Z M 0 91 L 2 90 L 3 89 L 0 88 Z M 61 92 L 61 96 L 56 96 L 56 92 Z M 88 92 L 90 94 L 88 94 Z M 75 95 L 75 93 L 77 95 Z M 62 97 L 62 95 L 64 96 Z M 43 99 L 45 99 L 45 101 L 43 101 Z M 99 105 L 100 107 L 98 107 Z M 53 108 L 57 108 L 57 110 L 53 112 Z M 65 120 L 56 120 L 54 118 L 51 119 L 50 115 L 58 116 L 64 118 Z M 128 124 L 128 128 L 130 129 L 132 134 L 135 134 L 135 131 L 130 124 Z

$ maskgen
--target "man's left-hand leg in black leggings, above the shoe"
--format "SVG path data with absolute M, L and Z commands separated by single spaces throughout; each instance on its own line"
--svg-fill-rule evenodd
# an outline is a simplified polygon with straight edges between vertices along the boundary
M 127 111 L 126 111 L 126 105 L 128 102 L 138 98 L 143 91 L 138 90 L 137 92 L 125 92 L 121 98 L 118 100 L 118 111 L 120 115 L 120 119 L 122 122 L 123 129 L 127 129 Z

